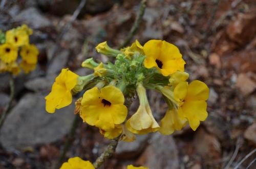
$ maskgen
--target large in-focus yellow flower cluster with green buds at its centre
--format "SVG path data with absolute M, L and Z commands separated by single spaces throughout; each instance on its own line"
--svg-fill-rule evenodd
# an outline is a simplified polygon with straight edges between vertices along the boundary
M 198 80 L 186 82 L 189 75 L 184 72 L 185 61 L 174 44 L 150 40 L 142 46 L 136 40 L 131 46 L 115 50 L 102 42 L 96 50 L 115 57 L 115 62 L 87 59 L 82 67 L 93 69 L 94 74 L 84 77 L 62 69 L 46 96 L 49 113 L 68 106 L 72 94 L 86 90 L 76 102 L 75 113 L 83 122 L 97 127 L 104 137 L 120 136 L 124 141 L 133 141 L 135 134 L 172 134 L 187 123 L 196 130 L 206 119 L 209 89 Z M 148 103 L 146 89 L 161 92 L 168 105 L 160 125 Z M 134 114 L 128 114 L 126 106 L 136 95 L 140 105 Z

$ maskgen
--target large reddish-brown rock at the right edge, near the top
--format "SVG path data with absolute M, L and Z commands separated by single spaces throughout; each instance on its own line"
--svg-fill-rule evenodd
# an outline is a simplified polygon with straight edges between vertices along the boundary
M 239 13 L 236 20 L 227 27 L 228 37 L 242 45 L 248 43 L 256 35 L 255 22 L 255 9 L 248 13 Z

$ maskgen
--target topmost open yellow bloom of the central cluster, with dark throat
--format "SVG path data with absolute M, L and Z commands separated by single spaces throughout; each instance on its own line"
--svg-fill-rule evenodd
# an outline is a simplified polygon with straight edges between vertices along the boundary
M 162 40 L 150 40 L 143 46 L 145 53 L 144 66 L 156 67 L 163 76 L 174 74 L 177 70 L 184 71 L 185 61 L 178 47 Z

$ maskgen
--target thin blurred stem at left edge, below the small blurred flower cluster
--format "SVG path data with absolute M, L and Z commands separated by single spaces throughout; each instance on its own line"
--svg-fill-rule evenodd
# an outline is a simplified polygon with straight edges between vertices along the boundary
M 1 115 L 1 118 L 0 118 L 0 128 L 2 127 L 4 121 L 5 121 L 5 118 L 7 116 L 7 114 L 9 113 L 10 109 L 11 109 L 11 106 L 12 106 L 12 102 L 13 102 L 13 99 L 14 99 L 14 92 L 15 92 L 15 89 L 14 89 L 14 79 L 13 79 L 13 76 L 10 74 L 10 80 L 9 80 L 9 84 L 10 84 L 10 100 L 8 102 L 8 104 L 6 105 L 2 115 Z

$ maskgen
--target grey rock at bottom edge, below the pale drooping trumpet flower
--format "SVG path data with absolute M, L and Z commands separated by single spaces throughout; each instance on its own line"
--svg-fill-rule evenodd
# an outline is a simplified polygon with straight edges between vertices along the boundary
M 154 169 L 180 168 L 178 150 L 173 136 L 154 133 L 150 145 L 140 156 L 137 163 Z

